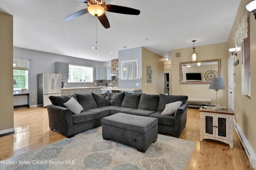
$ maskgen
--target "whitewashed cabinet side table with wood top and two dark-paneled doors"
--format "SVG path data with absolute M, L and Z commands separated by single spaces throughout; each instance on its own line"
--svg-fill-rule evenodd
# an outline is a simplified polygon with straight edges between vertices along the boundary
M 233 148 L 232 109 L 214 110 L 213 107 L 200 108 L 200 141 L 214 139 L 229 144 Z

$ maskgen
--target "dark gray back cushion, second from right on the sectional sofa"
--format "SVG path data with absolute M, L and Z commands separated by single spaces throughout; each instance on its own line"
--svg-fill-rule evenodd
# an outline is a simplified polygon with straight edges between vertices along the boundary
M 159 102 L 159 95 L 155 94 L 144 94 L 140 96 L 140 102 L 138 104 L 138 109 L 157 111 Z

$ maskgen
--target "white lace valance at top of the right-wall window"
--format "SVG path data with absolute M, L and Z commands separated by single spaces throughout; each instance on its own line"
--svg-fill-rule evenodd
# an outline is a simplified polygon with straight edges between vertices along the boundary
M 242 15 L 242 18 L 240 19 L 238 23 L 238 27 L 236 29 L 234 40 L 236 40 L 236 45 L 240 46 L 244 39 L 247 38 L 247 16 L 248 11 L 245 9 L 244 14 Z

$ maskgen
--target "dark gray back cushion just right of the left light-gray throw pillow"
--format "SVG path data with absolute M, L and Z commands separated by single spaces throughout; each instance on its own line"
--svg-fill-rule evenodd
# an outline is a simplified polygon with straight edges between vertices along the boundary
M 97 104 L 91 93 L 76 94 L 78 103 L 84 108 L 84 110 L 96 108 Z

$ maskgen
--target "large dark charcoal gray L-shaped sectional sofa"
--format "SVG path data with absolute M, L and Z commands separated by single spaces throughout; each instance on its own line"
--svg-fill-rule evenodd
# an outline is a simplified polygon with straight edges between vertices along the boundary
M 71 106 L 77 106 L 74 110 L 70 104 L 70 98 L 77 102 Z M 72 96 L 50 96 L 52 104 L 47 106 L 49 126 L 51 130 L 59 131 L 66 137 L 101 125 L 103 117 L 115 113 L 127 113 L 132 115 L 149 116 L 158 118 L 158 133 L 180 137 L 186 126 L 188 96 L 169 96 L 165 94 L 132 94 L 127 92 L 104 94 L 74 94 Z M 172 115 L 162 115 L 166 104 L 181 101 Z M 180 103 L 181 103 L 180 102 Z M 82 107 L 80 107 L 82 106 Z M 70 109 L 69 109 L 70 108 Z M 72 112 L 72 111 L 74 112 Z M 79 113 L 80 112 L 80 113 Z M 76 114 L 74 114 L 76 113 Z

